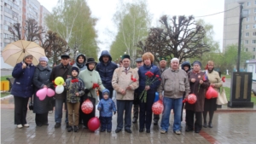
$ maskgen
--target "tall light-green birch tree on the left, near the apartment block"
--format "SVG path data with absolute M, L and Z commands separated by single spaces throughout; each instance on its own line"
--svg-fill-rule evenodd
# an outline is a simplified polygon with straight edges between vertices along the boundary
M 90 8 L 84 0 L 59 0 L 52 14 L 46 17 L 51 31 L 57 32 L 73 54 L 82 52 L 89 57 L 97 57 L 96 19 L 90 15 Z

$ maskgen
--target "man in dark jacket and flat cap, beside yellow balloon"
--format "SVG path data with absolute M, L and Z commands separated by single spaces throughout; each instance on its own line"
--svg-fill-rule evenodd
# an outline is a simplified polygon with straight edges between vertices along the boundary
M 55 66 L 51 72 L 50 80 L 54 81 L 55 78 L 61 77 L 66 81 L 67 78 L 71 77 L 72 66 L 69 65 L 70 57 L 69 55 L 61 55 L 61 64 Z M 65 109 L 67 109 L 66 103 L 67 91 L 64 90 L 61 94 L 55 94 L 55 128 L 61 127 L 61 118 L 62 118 L 62 106 L 65 102 Z M 67 112 L 66 112 L 66 124 L 67 122 Z

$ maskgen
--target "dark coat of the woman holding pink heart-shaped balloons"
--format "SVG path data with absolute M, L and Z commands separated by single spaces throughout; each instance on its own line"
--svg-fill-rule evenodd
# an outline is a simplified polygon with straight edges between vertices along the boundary
M 33 84 L 35 85 L 35 93 L 33 96 L 33 106 L 34 106 L 33 112 L 34 113 L 43 114 L 48 112 L 48 105 L 49 105 L 50 98 L 46 96 L 43 101 L 40 101 L 36 94 L 39 89 L 42 89 L 44 87 L 44 85 L 49 85 L 51 83 L 49 80 L 50 73 L 51 73 L 51 69 L 49 68 L 49 66 L 43 67 L 38 65 L 36 67 L 34 77 L 33 77 Z

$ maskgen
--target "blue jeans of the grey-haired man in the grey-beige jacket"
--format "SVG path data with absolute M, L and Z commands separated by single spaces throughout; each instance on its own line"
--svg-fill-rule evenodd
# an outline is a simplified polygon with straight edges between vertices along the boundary
M 170 113 L 173 108 L 174 112 L 174 122 L 173 122 L 173 131 L 181 130 L 180 129 L 180 118 L 181 118 L 181 109 L 183 106 L 183 98 L 172 99 L 164 97 L 164 112 L 162 115 L 161 129 L 168 131 L 169 128 L 169 118 Z

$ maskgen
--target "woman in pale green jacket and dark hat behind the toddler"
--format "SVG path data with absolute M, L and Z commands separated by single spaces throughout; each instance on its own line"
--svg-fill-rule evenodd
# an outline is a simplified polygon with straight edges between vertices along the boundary
M 88 121 L 90 120 L 90 118 L 95 117 L 96 103 L 98 101 L 98 97 L 96 94 L 96 89 L 93 88 L 93 84 L 99 84 L 98 89 L 101 91 L 105 89 L 105 87 L 102 85 L 102 79 L 99 75 L 99 72 L 95 71 L 96 64 L 97 63 L 94 58 L 88 58 L 86 63 L 87 69 L 79 73 L 79 78 L 82 79 L 85 87 L 85 94 L 83 96 L 84 101 L 89 98 L 93 104 L 93 111 L 90 112 L 90 114 L 82 114 L 84 129 L 88 128 Z

